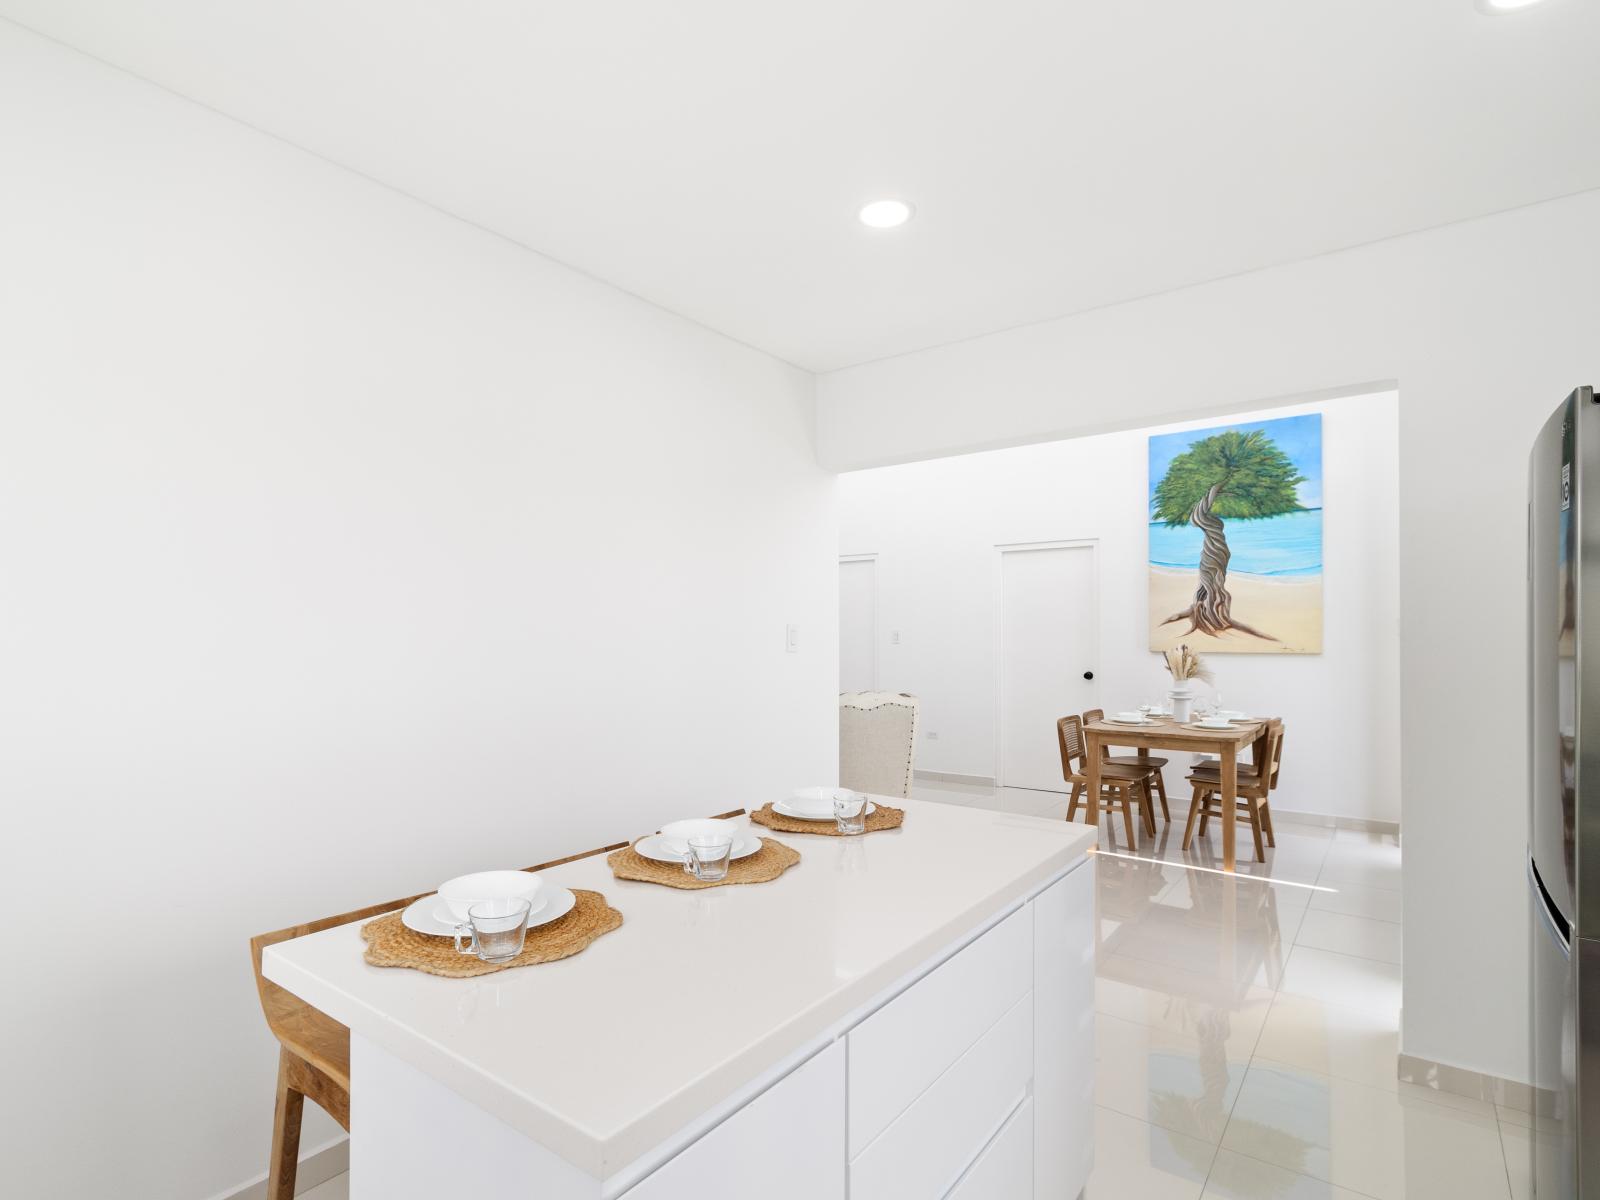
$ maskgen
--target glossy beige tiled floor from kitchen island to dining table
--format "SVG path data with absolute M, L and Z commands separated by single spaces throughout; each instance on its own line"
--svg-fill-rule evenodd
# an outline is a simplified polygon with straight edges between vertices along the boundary
M 1525 1114 L 1397 1078 L 1398 838 L 1280 821 L 1246 862 L 1242 826 L 1229 877 L 1171 808 L 1136 846 L 1101 822 L 1091 1200 L 1525 1200 Z

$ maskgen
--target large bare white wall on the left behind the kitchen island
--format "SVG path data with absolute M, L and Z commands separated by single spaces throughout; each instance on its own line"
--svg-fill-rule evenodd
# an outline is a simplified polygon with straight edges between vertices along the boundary
M 0 162 L 0 1190 L 200 1200 L 251 934 L 834 778 L 835 485 L 810 376 L 5 22 Z

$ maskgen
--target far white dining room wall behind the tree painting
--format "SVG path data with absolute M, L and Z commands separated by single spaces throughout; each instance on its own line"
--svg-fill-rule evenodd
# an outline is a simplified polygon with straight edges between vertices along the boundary
M 1398 821 L 1395 395 L 1251 411 L 1250 419 L 1306 411 L 1323 413 L 1323 653 L 1210 654 L 1208 662 L 1230 707 L 1270 710 L 1288 722 L 1291 754 L 1275 808 Z M 1096 539 L 1096 702 L 1123 709 L 1165 691 L 1170 680 L 1149 650 L 1147 440 L 1200 424 L 1214 419 L 840 478 L 840 554 L 878 555 L 882 686 L 922 701 L 918 770 L 997 774 L 1000 544 Z M 1054 731 L 1043 736 L 1054 739 Z M 1350 747 L 1371 763 L 1368 784 L 1315 770 Z

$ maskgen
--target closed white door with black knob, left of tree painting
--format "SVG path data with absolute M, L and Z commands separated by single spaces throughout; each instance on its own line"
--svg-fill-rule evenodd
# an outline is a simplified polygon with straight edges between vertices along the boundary
M 1094 547 L 1000 550 L 1000 782 L 1066 792 L 1056 718 L 1094 707 Z

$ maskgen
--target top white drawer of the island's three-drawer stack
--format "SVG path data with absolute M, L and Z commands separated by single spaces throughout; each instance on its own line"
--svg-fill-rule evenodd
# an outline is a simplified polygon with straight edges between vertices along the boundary
M 1032 986 L 1029 906 L 850 1030 L 850 1157 L 883 1133 Z

